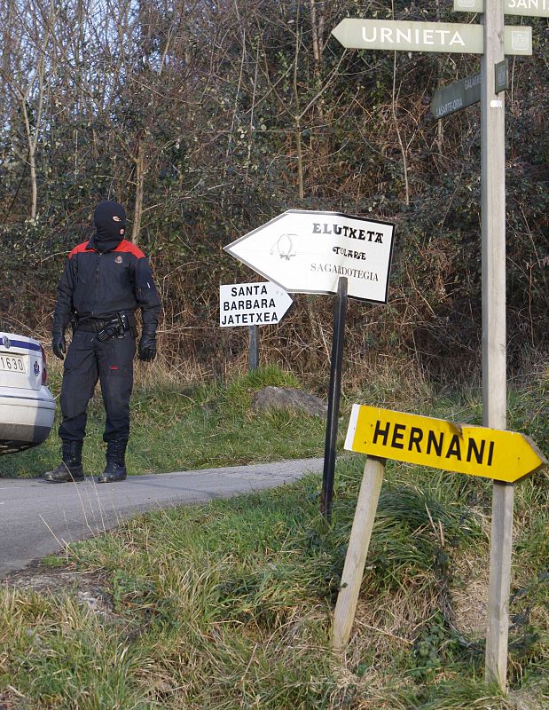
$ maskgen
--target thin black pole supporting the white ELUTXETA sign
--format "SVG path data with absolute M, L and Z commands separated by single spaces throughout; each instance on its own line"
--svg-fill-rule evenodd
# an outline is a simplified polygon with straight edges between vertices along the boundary
M 332 519 L 333 472 L 335 470 L 337 425 L 340 414 L 341 367 L 343 364 L 346 312 L 347 278 L 341 276 L 337 284 L 337 300 L 333 312 L 332 362 L 330 366 L 330 390 L 328 392 L 324 471 L 322 475 L 322 493 L 320 494 L 320 512 L 328 523 Z

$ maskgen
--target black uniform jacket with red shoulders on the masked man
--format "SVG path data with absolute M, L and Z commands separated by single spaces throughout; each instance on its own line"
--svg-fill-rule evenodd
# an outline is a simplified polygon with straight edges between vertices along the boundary
M 161 301 L 145 254 L 130 241 L 113 249 L 99 250 L 94 238 L 68 255 L 58 286 L 53 331 L 65 329 L 78 319 L 108 319 L 115 313 L 141 309 L 143 333 L 154 335 Z

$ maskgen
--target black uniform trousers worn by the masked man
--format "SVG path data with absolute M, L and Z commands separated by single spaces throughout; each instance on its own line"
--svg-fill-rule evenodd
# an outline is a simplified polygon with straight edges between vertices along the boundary
M 133 387 L 133 359 L 136 343 L 129 330 L 123 338 L 101 343 L 95 333 L 77 330 L 68 346 L 61 385 L 59 425 L 62 441 L 82 442 L 86 435 L 88 402 L 101 383 L 106 424 L 103 440 L 129 438 L 129 398 Z

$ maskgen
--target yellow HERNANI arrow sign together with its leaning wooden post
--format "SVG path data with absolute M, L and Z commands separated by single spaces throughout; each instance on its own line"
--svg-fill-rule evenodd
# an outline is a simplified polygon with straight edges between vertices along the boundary
M 345 448 L 368 458 L 333 612 L 334 651 L 349 642 L 387 458 L 506 482 L 528 476 L 546 463 L 522 434 L 376 406 L 353 405 Z M 498 528 L 498 533 L 504 531 Z

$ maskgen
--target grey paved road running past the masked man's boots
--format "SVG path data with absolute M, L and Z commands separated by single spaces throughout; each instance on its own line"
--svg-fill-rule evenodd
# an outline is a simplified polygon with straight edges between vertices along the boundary
M 294 481 L 322 459 L 132 476 L 122 484 L 53 485 L 0 478 L 0 579 L 68 542 L 103 533 L 154 508 L 210 501 Z

